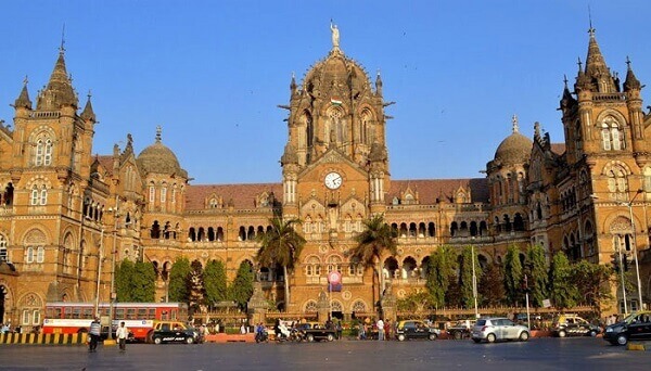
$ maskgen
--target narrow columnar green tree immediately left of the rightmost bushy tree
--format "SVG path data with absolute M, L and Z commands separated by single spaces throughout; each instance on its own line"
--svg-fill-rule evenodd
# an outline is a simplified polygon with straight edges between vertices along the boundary
M 558 309 L 571 308 L 576 305 L 578 290 L 571 279 L 572 268 L 567 256 L 563 252 L 556 253 L 551 259 L 549 271 L 549 296 Z

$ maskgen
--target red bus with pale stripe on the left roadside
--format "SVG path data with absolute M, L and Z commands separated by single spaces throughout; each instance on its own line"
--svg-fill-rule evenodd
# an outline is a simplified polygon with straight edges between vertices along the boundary
M 110 304 L 100 303 L 100 318 L 105 320 L 103 332 L 108 332 Z M 95 316 L 94 303 L 54 302 L 46 304 L 42 333 L 76 334 L 88 332 L 90 322 Z M 112 329 L 115 331 L 119 322 L 133 333 L 133 340 L 145 342 L 153 331 L 154 321 L 188 320 L 188 305 L 184 303 L 114 303 Z M 104 322 L 104 321 L 103 321 Z M 104 323 L 103 323 L 104 324 Z

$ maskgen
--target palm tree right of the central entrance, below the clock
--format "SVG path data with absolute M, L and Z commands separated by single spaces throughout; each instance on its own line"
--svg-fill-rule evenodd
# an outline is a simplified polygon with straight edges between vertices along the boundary
M 355 246 L 350 251 L 350 257 L 353 260 L 361 263 L 366 268 L 373 269 L 373 305 L 375 305 L 375 276 L 378 276 L 378 282 L 380 287 L 382 286 L 380 280 L 381 276 L 381 257 L 385 251 L 388 251 L 392 255 L 397 254 L 397 242 L 396 238 L 398 232 L 392 229 L 385 221 L 382 214 L 375 214 L 371 218 L 363 221 L 366 227 L 365 231 L 355 236 Z M 380 297 L 380 293 L 378 293 Z

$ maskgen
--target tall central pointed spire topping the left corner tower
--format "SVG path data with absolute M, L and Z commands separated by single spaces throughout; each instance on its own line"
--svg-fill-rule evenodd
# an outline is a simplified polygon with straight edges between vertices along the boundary
M 50 76 L 50 81 L 38 97 L 37 110 L 59 110 L 63 105 L 78 105 L 77 94 L 73 89 L 71 78 L 65 68 L 65 49 L 62 40 L 59 48 L 59 59 Z

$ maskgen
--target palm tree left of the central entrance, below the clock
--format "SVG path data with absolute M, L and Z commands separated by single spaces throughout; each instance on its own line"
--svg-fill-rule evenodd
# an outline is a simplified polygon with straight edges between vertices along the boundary
M 285 311 L 290 306 L 290 280 L 288 271 L 294 269 L 295 263 L 301 256 L 305 239 L 294 229 L 294 225 L 301 223 L 298 219 L 283 221 L 281 217 L 269 219 L 271 230 L 258 234 L 257 240 L 260 248 L 256 259 L 260 267 L 281 266 L 284 274 Z

